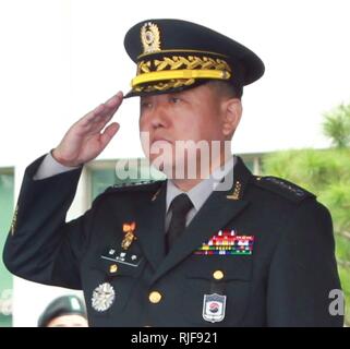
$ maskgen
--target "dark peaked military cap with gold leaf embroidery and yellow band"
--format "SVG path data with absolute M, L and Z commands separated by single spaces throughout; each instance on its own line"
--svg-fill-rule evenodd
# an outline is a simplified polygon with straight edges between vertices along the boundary
M 147 20 L 125 35 L 137 64 L 125 97 L 178 92 L 210 80 L 237 87 L 264 74 L 263 61 L 249 48 L 205 26 L 180 20 Z

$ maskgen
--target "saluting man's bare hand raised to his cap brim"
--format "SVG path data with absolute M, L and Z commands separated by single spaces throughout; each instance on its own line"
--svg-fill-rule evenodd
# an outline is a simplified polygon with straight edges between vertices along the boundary
M 122 100 L 123 94 L 119 92 L 75 122 L 53 149 L 53 158 L 64 166 L 74 167 L 97 157 L 119 130 L 117 122 L 112 122 L 105 130 L 104 128 Z

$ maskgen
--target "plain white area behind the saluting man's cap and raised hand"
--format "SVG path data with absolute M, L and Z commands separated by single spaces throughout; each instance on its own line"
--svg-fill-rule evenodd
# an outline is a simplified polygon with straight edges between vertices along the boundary
M 0 167 L 29 163 L 119 89 L 135 65 L 126 31 L 176 17 L 232 37 L 264 61 L 246 86 L 233 152 L 326 147 L 323 115 L 350 103 L 347 0 L 0 0 Z M 138 98 L 116 116 L 121 129 L 100 158 L 141 156 Z

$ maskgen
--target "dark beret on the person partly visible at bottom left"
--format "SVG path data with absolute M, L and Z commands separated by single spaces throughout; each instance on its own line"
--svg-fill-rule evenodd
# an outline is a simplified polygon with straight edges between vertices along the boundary
M 76 296 L 62 296 L 47 305 L 38 320 L 38 327 L 46 327 L 55 317 L 62 315 L 81 315 L 86 318 L 84 302 Z

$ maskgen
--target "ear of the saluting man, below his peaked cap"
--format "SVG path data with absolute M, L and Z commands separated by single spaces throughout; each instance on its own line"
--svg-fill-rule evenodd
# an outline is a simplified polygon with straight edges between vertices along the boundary
M 231 139 L 242 117 L 242 103 L 231 98 L 222 104 L 222 134 Z

